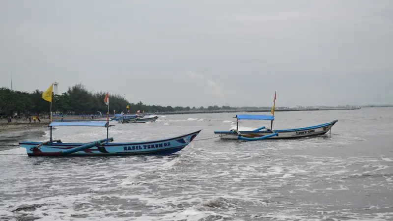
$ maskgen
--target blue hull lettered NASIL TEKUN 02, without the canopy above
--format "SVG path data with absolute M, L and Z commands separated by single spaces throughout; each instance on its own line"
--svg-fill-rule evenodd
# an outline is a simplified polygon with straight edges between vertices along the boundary
M 94 146 L 84 151 L 78 151 L 67 156 L 108 156 L 108 155 L 167 155 L 182 150 L 194 138 L 197 137 L 201 130 L 182 135 L 175 138 L 167 138 L 153 141 L 125 142 L 125 143 L 108 143 L 102 146 Z M 19 142 L 19 146 L 26 148 L 28 156 L 39 156 L 33 153 L 33 147 L 41 142 Z M 39 148 L 41 155 L 51 156 L 51 153 L 72 149 L 87 143 L 62 143 L 52 142 L 42 145 Z M 42 154 L 45 153 L 45 154 Z M 53 155 L 55 156 L 55 155 Z

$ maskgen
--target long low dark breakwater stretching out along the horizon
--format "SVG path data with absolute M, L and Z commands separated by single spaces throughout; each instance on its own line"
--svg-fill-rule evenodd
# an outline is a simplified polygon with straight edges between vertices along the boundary
M 280 111 L 337 111 L 337 110 L 360 110 L 360 107 L 352 108 L 288 108 L 276 109 L 275 112 Z M 170 111 L 170 112 L 154 112 L 154 114 L 191 114 L 191 113 L 234 113 L 234 112 L 270 112 L 271 109 L 237 109 L 237 110 L 196 110 L 196 111 Z

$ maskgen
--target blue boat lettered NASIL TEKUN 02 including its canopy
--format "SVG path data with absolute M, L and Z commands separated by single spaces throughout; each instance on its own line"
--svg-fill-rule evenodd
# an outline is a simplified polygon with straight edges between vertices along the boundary
M 52 138 L 53 127 L 105 127 L 107 138 L 88 143 L 63 143 Z M 181 135 L 174 138 L 164 138 L 151 141 L 112 143 L 109 138 L 109 122 L 105 121 L 80 121 L 80 122 L 52 122 L 49 124 L 50 139 L 45 142 L 22 141 L 19 146 L 26 148 L 28 156 L 106 156 L 106 155 L 165 155 L 182 150 L 199 131 Z

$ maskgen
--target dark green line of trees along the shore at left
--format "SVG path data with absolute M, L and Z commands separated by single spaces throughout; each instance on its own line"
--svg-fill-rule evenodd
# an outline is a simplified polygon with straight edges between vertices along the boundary
M 6 87 L 0 88 L 0 115 L 18 115 L 26 114 L 49 114 L 51 103 L 42 98 L 43 91 L 36 89 L 32 93 L 10 90 Z M 67 91 L 62 94 L 53 94 L 52 111 L 60 114 L 97 114 L 100 111 L 106 114 L 108 108 L 104 104 L 106 92 L 92 93 L 86 87 L 79 83 L 68 87 Z M 121 111 L 135 113 L 136 111 L 145 112 L 170 112 L 170 111 L 192 111 L 192 110 L 235 110 L 237 108 L 229 106 L 209 106 L 204 107 L 163 107 L 159 105 L 145 105 L 141 101 L 134 104 L 119 94 L 110 94 L 110 113 L 113 110 L 116 113 Z M 127 105 L 129 109 L 126 109 Z M 242 109 L 245 109 L 243 107 Z M 248 107 L 246 109 L 258 109 Z

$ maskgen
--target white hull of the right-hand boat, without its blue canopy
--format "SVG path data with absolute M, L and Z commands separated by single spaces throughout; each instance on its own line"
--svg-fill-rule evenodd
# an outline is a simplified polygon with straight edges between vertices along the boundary
M 337 122 L 334 120 L 330 123 L 315 125 L 311 127 L 286 129 L 286 130 L 270 130 L 262 129 L 260 131 L 239 131 L 239 133 L 246 138 L 260 138 L 273 133 L 278 133 L 278 136 L 269 137 L 267 139 L 285 139 L 285 138 L 303 138 L 310 136 L 318 136 L 326 134 Z M 220 139 L 238 139 L 239 134 L 236 131 L 214 131 L 214 134 L 219 135 Z

